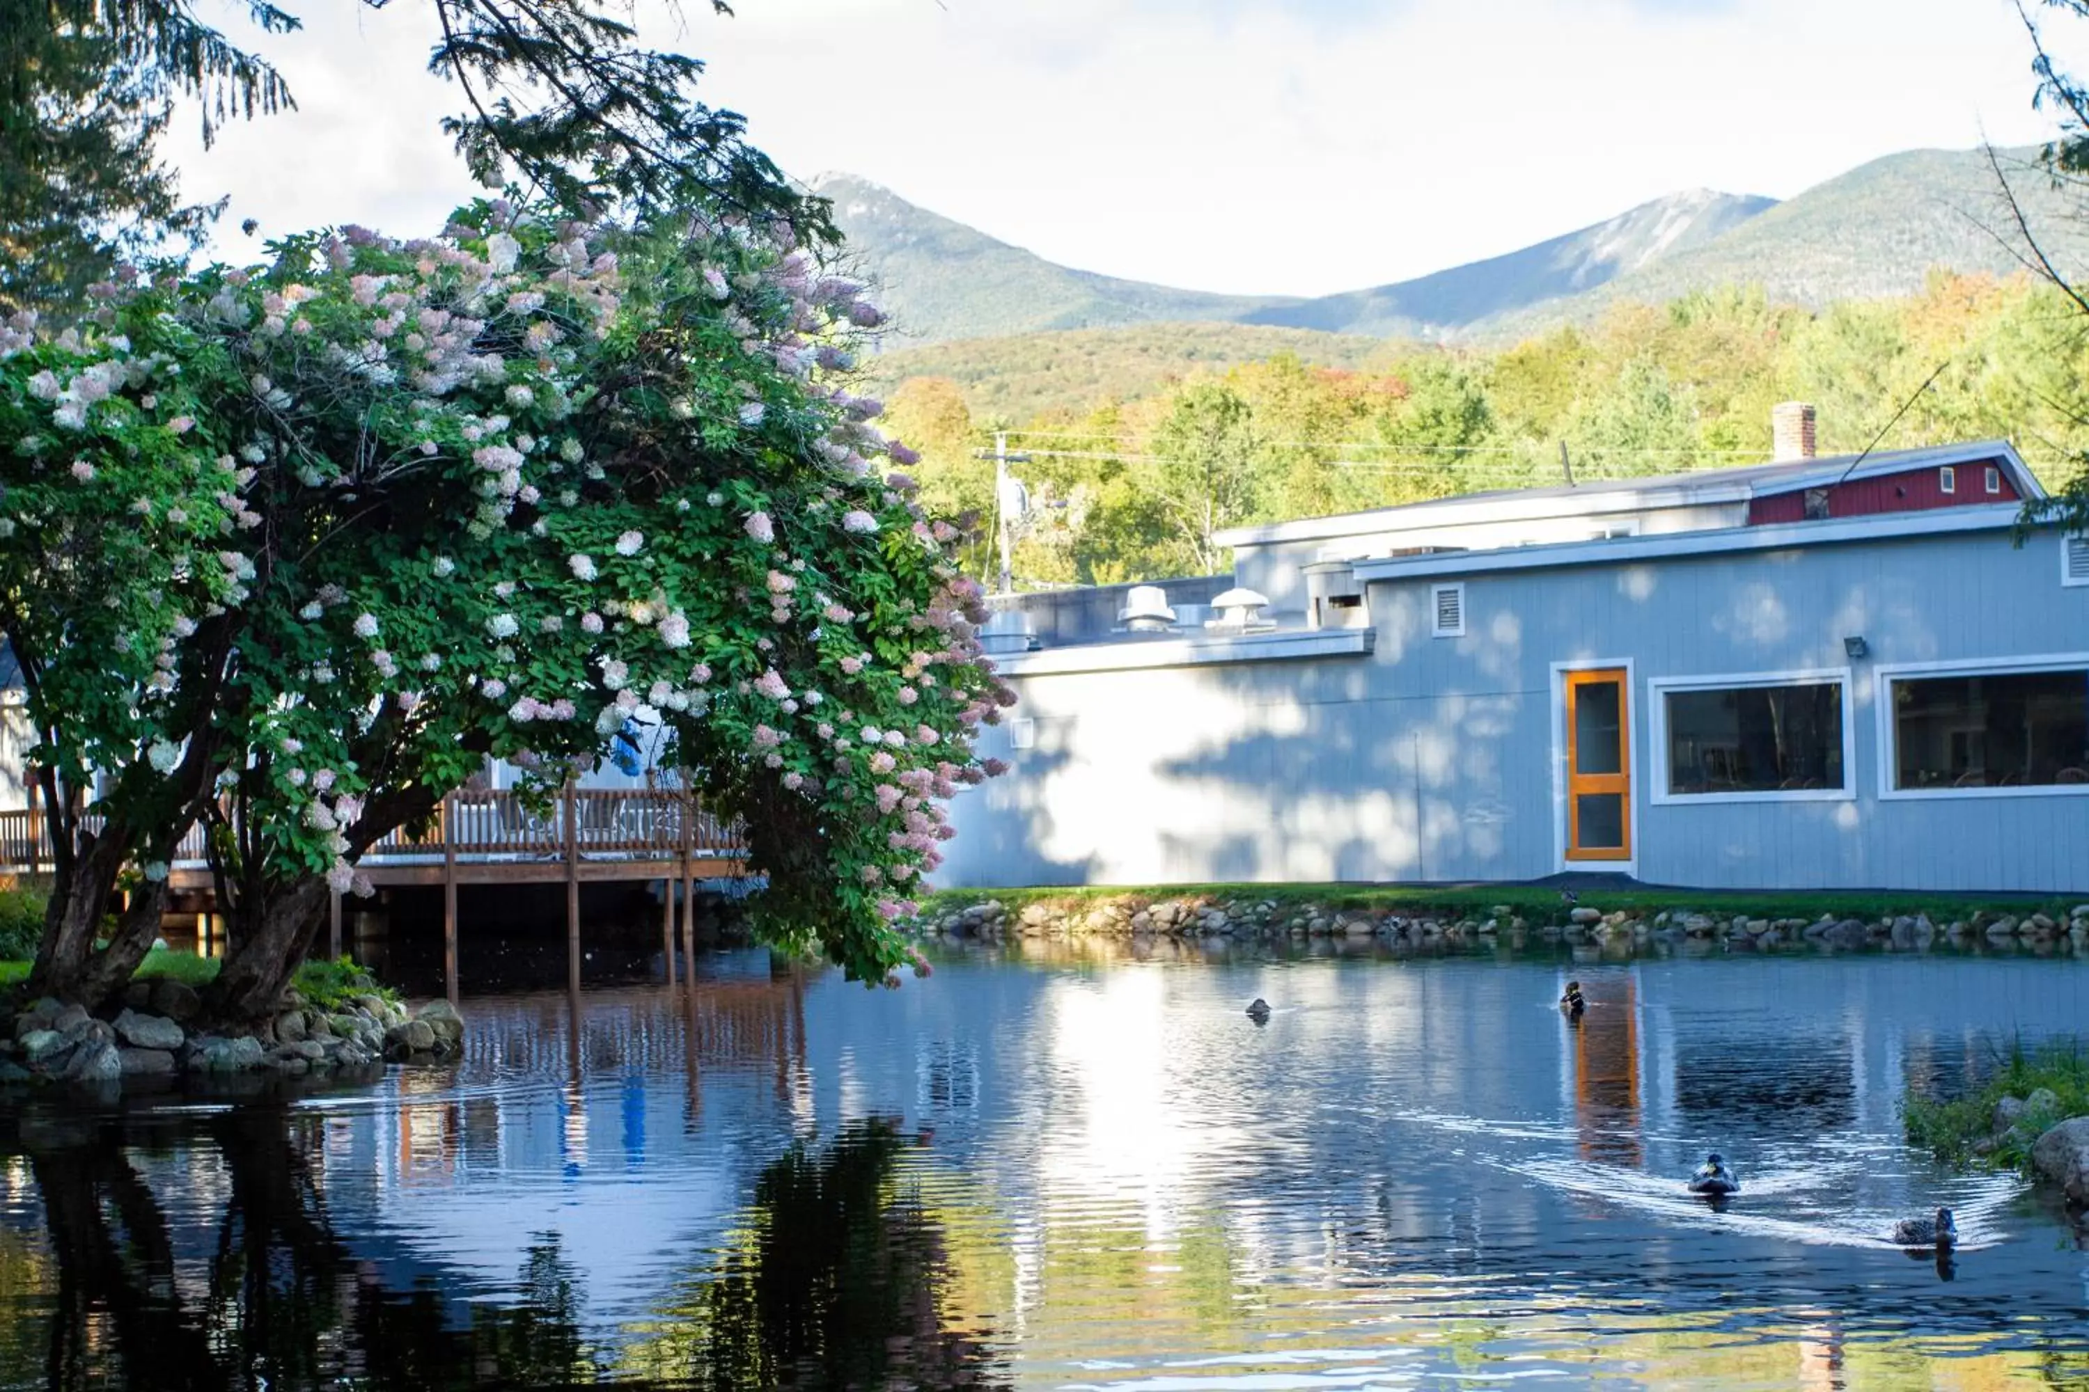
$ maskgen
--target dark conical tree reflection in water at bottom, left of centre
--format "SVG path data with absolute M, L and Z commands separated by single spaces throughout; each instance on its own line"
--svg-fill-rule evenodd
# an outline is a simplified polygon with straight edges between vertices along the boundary
M 792 1146 L 754 1185 L 717 1269 L 633 1352 L 648 1373 L 702 1388 L 976 1388 L 992 1354 L 946 1327 L 940 1225 L 894 1179 L 890 1123 L 823 1154 Z

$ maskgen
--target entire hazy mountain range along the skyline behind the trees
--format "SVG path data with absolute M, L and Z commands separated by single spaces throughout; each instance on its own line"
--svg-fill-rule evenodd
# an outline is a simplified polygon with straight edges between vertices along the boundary
M 2001 159 L 2026 221 L 2062 269 L 2089 269 L 2089 236 L 2070 198 L 2031 167 L 2028 150 Z M 2022 265 L 2012 248 L 2014 213 L 1980 150 L 1888 154 L 1786 202 L 1671 194 L 1504 257 L 1318 298 L 1095 275 L 854 175 L 823 175 L 813 188 L 834 198 L 861 271 L 882 284 L 900 326 L 894 349 L 1170 321 L 1502 340 L 1588 321 L 1621 301 L 1659 305 L 1692 290 L 1761 286 L 1774 301 L 1817 309 L 1907 294 L 1937 267 L 2010 273 Z

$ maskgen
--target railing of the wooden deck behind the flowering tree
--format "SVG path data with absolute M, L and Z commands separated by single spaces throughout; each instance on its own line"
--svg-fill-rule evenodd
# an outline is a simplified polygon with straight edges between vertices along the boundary
M 50 868 L 44 822 L 40 808 L 0 812 L 0 872 Z M 737 826 L 675 791 L 566 789 L 535 808 L 516 793 L 451 793 L 426 833 L 395 831 L 361 864 L 560 860 L 568 856 L 568 831 L 570 854 L 581 860 L 735 858 L 746 845 Z M 175 851 L 175 868 L 201 866 L 203 849 L 205 831 L 192 826 Z

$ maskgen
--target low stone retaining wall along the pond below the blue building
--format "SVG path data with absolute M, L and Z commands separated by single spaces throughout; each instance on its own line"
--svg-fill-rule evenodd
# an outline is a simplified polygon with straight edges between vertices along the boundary
M 1011 910 L 982 897 L 965 908 L 948 908 L 913 925 L 928 939 L 1076 939 L 1076 937 L 1226 937 L 1247 941 L 1278 939 L 1375 939 L 1389 945 L 1483 945 L 1588 943 L 1632 950 L 1642 943 L 1688 939 L 1719 941 L 1728 947 L 1776 947 L 1817 943 L 1830 950 L 1884 947 L 1920 952 L 1939 941 L 1949 945 L 2026 943 L 2047 950 L 2089 952 L 2089 904 L 2064 918 L 2043 912 L 2014 916 L 1980 912 L 1951 922 L 1928 916 L 1897 918 L 1748 918 L 1703 914 L 1690 908 L 1602 910 L 1577 906 L 1558 914 L 1563 922 L 1533 922 L 1508 904 L 1483 914 L 1402 912 L 1395 908 L 1327 908 L 1278 904 L 1274 899 L 1184 895 L 1153 899 L 1118 895 L 1063 904 L 1034 902 Z

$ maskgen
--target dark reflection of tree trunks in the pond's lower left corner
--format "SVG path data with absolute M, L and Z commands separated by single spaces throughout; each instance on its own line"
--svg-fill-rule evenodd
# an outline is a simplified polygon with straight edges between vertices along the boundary
M 56 1265 L 42 1382 L 48 1388 L 466 1388 L 591 1382 L 579 1296 L 558 1248 L 531 1248 L 508 1306 L 453 1302 L 428 1286 L 386 1290 L 334 1238 L 307 1165 L 320 1121 L 274 1108 L 213 1117 L 226 1210 L 207 1279 L 178 1279 L 175 1244 L 132 1162 L 163 1146 L 123 1121 L 21 1121 L 6 1148 L 29 1156 Z M 201 1148 L 178 1154 L 192 1175 Z M 0 1344 L 21 1357 L 27 1340 Z M 33 1384 L 21 1363 L 0 1379 Z

